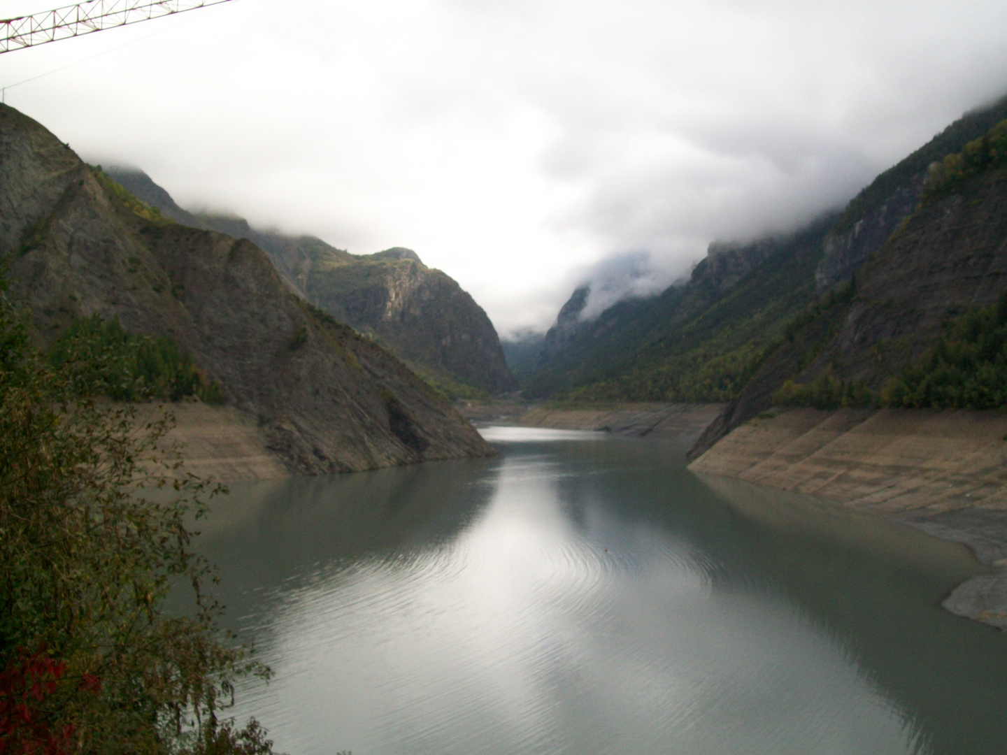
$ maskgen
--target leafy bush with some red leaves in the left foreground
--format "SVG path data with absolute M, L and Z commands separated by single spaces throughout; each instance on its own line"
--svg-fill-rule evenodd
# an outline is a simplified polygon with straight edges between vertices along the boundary
M 100 398 L 93 345 L 52 363 L 0 301 L 0 752 L 269 753 L 221 720 L 269 671 L 222 637 L 191 550 L 220 488 L 163 450 L 170 415 Z M 179 584 L 188 616 L 163 610 Z

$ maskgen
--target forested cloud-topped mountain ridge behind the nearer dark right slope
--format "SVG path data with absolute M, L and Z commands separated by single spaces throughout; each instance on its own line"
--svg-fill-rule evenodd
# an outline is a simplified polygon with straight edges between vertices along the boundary
M 792 324 L 848 283 L 907 218 L 931 166 L 1007 118 L 1007 99 L 967 114 L 879 175 L 841 213 L 749 244 L 712 244 L 689 281 L 592 320 L 579 288 L 546 335 L 532 396 L 569 402 L 737 399 Z M 572 315 L 576 312 L 577 314 Z

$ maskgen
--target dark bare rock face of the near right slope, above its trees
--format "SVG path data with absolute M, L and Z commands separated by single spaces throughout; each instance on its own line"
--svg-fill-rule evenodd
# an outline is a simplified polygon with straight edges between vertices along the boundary
M 877 390 L 919 358 L 944 325 L 1007 290 L 1007 170 L 923 201 L 857 272 L 856 287 L 792 334 L 710 426 L 693 458 L 772 407 L 785 380 L 829 374 Z M 814 358 L 809 358 L 814 355 Z

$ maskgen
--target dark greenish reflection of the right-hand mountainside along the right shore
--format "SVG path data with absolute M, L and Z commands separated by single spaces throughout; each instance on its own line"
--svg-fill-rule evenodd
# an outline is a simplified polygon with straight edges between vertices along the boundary
M 782 591 L 835 637 L 906 712 L 921 751 L 1002 752 L 1007 643 L 940 607 L 981 568 L 963 547 L 785 491 L 661 469 L 667 459 L 654 444 L 582 444 L 571 463 L 596 472 L 561 483 L 582 526 L 611 522 L 584 510 L 603 506 L 617 508 L 623 532 L 643 522 L 687 539 L 715 590 Z

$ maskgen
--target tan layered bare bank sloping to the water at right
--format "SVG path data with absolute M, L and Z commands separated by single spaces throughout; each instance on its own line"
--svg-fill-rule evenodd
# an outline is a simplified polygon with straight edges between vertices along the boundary
M 689 468 L 879 513 L 967 546 L 991 573 L 943 605 L 1007 631 L 1007 414 L 773 411 Z

